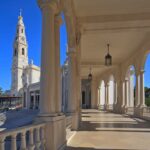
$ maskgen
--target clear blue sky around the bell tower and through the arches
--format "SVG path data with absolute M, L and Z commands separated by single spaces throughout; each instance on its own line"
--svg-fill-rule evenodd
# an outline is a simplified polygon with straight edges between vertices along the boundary
M 29 59 L 40 66 L 42 20 L 37 0 L 0 0 L 0 87 L 4 90 L 11 85 L 13 41 L 20 8 L 23 10 Z M 63 23 L 60 36 L 61 64 L 66 57 L 66 44 L 66 26 Z M 150 87 L 150 55 L 147 57 L 145 71 L 145 86 Z

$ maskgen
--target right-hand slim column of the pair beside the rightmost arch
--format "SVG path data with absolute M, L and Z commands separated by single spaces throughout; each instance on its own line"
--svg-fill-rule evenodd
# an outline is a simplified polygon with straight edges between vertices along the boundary
M 145 107 L 144 70 L 140 72 L 140 107 Z

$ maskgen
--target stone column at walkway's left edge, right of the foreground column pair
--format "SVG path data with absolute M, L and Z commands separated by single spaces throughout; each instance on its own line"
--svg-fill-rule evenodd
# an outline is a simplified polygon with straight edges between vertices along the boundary
M 77 54 L 75 49 L 68 52 L 68 108 L 67 113 L 72 115 L 72 129 L 77 130 L 79 126 L 78 100 L 77 100 Z

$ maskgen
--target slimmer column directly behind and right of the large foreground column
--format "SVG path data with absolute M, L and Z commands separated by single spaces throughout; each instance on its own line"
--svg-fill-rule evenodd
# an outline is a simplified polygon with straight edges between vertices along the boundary
M 55 69 L 56 69 L 56 112 L 61 114 L 61 67 L 60 67 L 60 25 L 62 23 L 61 16 L 55 17 Z

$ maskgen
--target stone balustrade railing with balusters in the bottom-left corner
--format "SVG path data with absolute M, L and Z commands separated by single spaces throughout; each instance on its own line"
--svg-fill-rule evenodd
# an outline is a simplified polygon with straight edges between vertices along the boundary
M 0 132 L 0 150 L 45 150 L 45 124 Z

